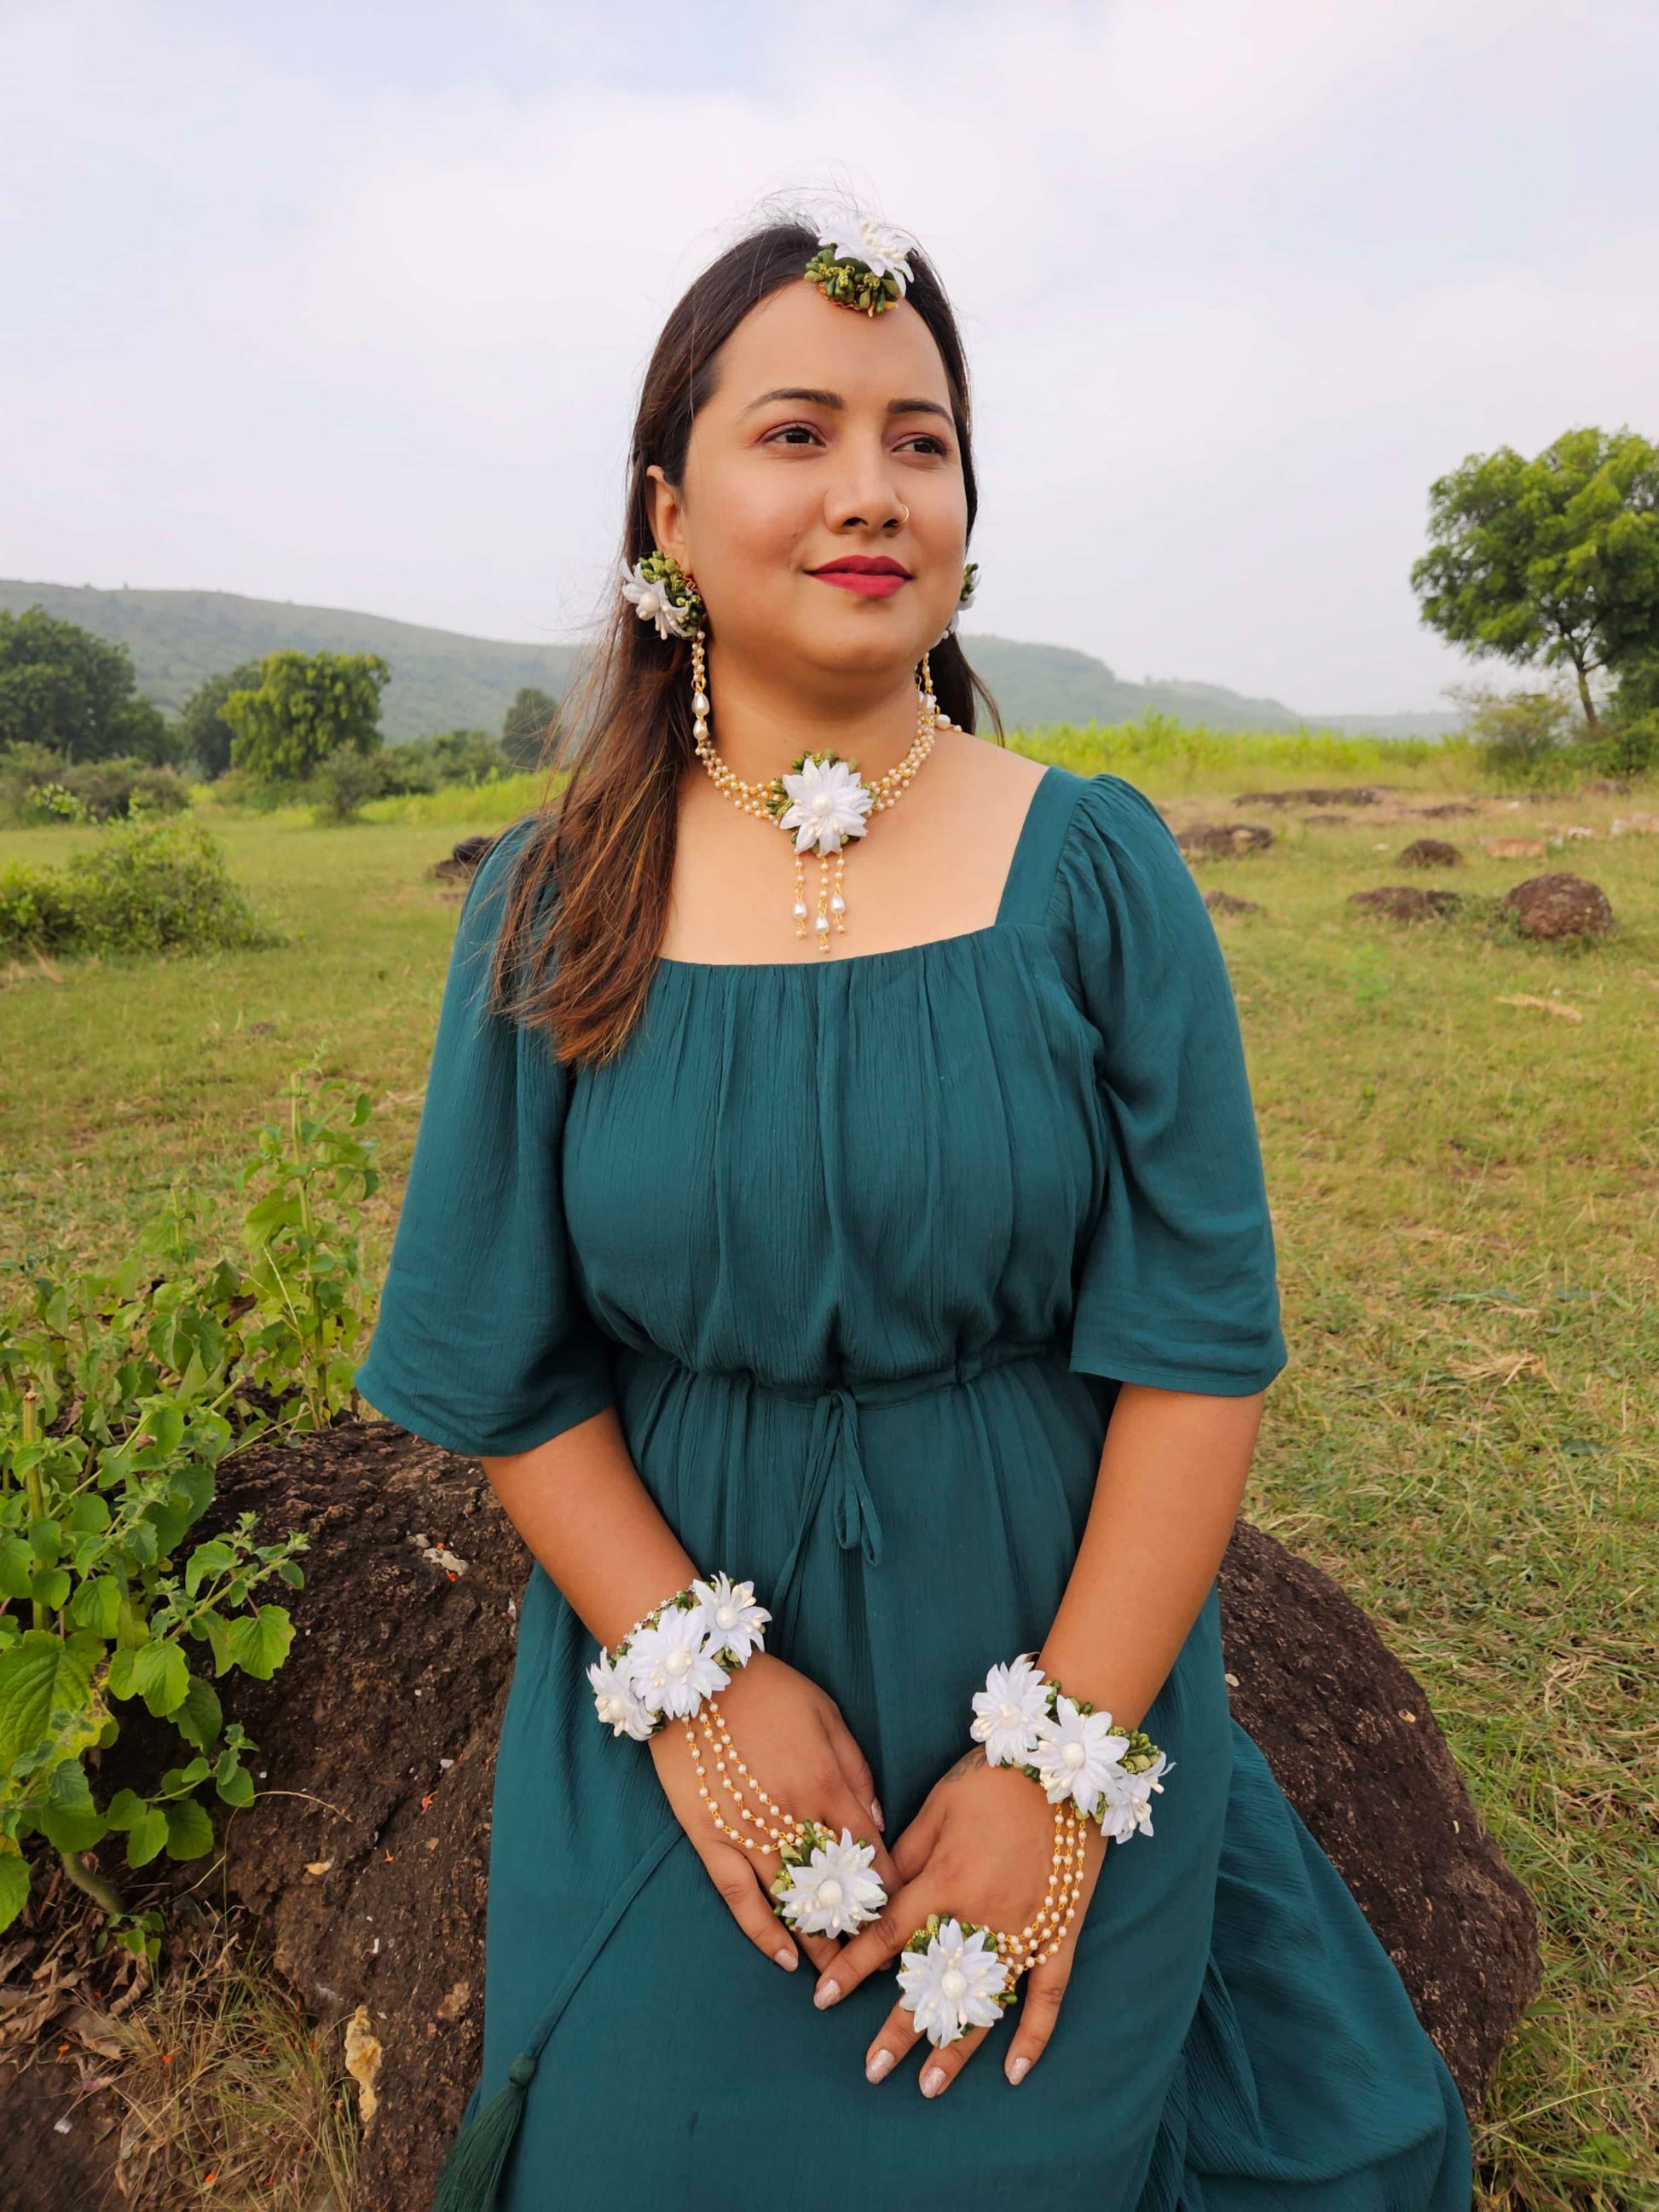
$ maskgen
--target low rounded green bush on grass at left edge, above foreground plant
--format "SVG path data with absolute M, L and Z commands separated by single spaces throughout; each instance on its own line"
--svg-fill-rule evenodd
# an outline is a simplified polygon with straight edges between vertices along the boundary
M 0 869 L 0 956 L 270 945 L 199 823 L 122 823 L 62 869 Z

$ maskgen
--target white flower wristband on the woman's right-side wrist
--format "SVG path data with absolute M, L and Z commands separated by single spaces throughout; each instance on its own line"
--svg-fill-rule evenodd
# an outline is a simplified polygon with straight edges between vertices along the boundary
M 1152 1834 L 1170 1761 L 1139 1728 L 1113 1730 L 1110 1712 L 1066 1697 L 1033 1652 L 991 1668 L 969 1734 L 993 1767 L 1020 1767 L 1051 1805 L 1071 1801 L 1110 1843 Z

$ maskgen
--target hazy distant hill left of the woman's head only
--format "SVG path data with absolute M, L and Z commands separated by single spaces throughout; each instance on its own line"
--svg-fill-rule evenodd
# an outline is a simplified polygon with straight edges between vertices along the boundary
M 458 630 L 427 630 L 385 615 L 352 615 L 228 591 L 93 591 L 86 584 L 0 580 L 0 608 L 44 606 L 97 637 L 128 646 L 146 699 L 177 712 L 204 677 L 265 653 L 378 653 L 392 666 L 380 726 L 398 743 L 436 730 L 500 730 L 522 684 L 555 699 L 577 664 L 573 646 L 511 646 Z

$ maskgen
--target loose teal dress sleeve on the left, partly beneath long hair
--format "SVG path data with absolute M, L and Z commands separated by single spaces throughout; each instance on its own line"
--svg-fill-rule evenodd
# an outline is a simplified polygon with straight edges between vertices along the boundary
M 613 1396 L 564 1228 L 571 1075 L 542 1031 L 489 1006 L 524 836 L 493 845 L 460 914 L 392 1267 L 356 1376 L 376 1411 L 465 1453 L 529 1451 Z

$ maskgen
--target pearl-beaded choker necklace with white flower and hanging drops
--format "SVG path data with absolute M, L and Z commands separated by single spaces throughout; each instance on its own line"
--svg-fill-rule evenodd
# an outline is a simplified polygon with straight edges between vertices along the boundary
M 734 768 L 728 768 L 708 734 L 708 675 L 703 639 L 692 637 L 692 737 L 697 759 L 708 770 L 717 790 L 726 792 L 743 814 L 759 814 L 774 821 L 779 830 L 794 834 L 794 933 L 807 933 L 807 854 L 818 854 L 818 902 L 812 911 L 818 951 L 830 951 L 830 936 L 847 927 L 847 898 L 841 887 L 847 867 L 847 841 L 863 836 L 869 816 L 896 805 L 909 790 L 916 770 L 933 750 L 938 726 L 949 723 L 940 714 L 933 697 L 933 672 L 922 655 L 922 686 L 916 699 L 916 741 L 898 768 L 865 783 L 856 761 L 843 761 L 838 752 L 803 752 L 787 774 L 772 776 L 770 783 L 745 783 Z

